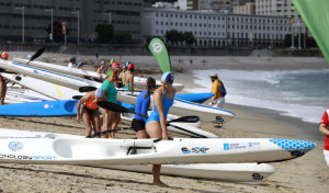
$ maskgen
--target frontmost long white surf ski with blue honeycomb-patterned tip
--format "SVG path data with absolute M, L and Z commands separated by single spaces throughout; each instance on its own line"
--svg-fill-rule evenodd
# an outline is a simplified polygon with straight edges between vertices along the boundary
M 26 164 L 175 164 L 272 162 L 314 149 L 306 140 L 279 138 L 1 138 L 0 162 Z

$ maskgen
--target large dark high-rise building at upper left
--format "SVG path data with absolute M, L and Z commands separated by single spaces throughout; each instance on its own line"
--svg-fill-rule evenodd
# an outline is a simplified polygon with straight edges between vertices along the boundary
M 50 9 L 54 21 L 66 22 L 68 41 L 77 41 L 78 16 L 80 41 L 95 39 L 95 26 L 102 23 L 111 23 L 115 32 L 125 31 L 133 39 L 140 39 L 143 0 L 1 0 L 0 39 L 21 39 L 22 26 L 26 41 L 48 39 L 46 29 L 52 14 L 46 10 Z

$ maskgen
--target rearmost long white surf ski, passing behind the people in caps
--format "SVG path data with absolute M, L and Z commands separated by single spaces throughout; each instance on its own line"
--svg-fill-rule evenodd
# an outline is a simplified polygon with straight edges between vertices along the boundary
M 20 61 L 20 63 L 24 63 L 26 64 L 29 61 L 29 59 L 22 59 L 22 58 L 14 58 L 14 60 Z M 63 73 L 67 73 L 67 75 L 72 75 L 76 77 L 80 77 L 80 78 L 91 78 L 91 79 L 100 79 L 100 76 L 94 72 L 94 71 L 89 71 L 89 70 L 83 70 L 83 69 L 76 69 L 76 68 L 68 68 L 66 66 L 61 66 L 61 65 L 55 65 L 55 64 L 50 64 L 50 63 L 43 63 L 43 61 L 30 61 L 31 66 L 37 67 L 37 68 L 42 68 L 42 69 L 47 69 L 50 71 L 58 71 L 58 72 L 63 72 Z M 102 78 L 105 79 L 106 76 L 102 75 Z M 146 82 L 146 78 L 141 78 L 141 77 L 134 77 L 134 86 L 136 88 L 141 88 L 145 89 L 145 82 Z M 161 86 L 161 81 L 156 81 L 156 84 L 158 87 Z M 172 87 L 177 90 L 177 91 L 181 91 L 183 90 L 184 86 L 180 84 L 180 83 L 173 83 Z

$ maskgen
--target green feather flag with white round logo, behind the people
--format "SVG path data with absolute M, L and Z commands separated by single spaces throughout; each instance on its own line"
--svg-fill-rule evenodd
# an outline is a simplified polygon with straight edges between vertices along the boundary
M 159 37 L 154 37 L 148 48 L 158 61 L 162 72 L 171 71 L 171 64 L 164 43 Z

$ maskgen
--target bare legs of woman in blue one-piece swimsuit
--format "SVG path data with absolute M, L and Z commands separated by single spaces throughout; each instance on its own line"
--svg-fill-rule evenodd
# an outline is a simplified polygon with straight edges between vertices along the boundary
M 161 138 L 162 129 L 160 123 L 157 121 L 150 121 L 145 126 L 146 132 L 150 138 Z M 158 186 L 168 186 L 160 180 L 161 164 L 152 164 L 154 184 Z

